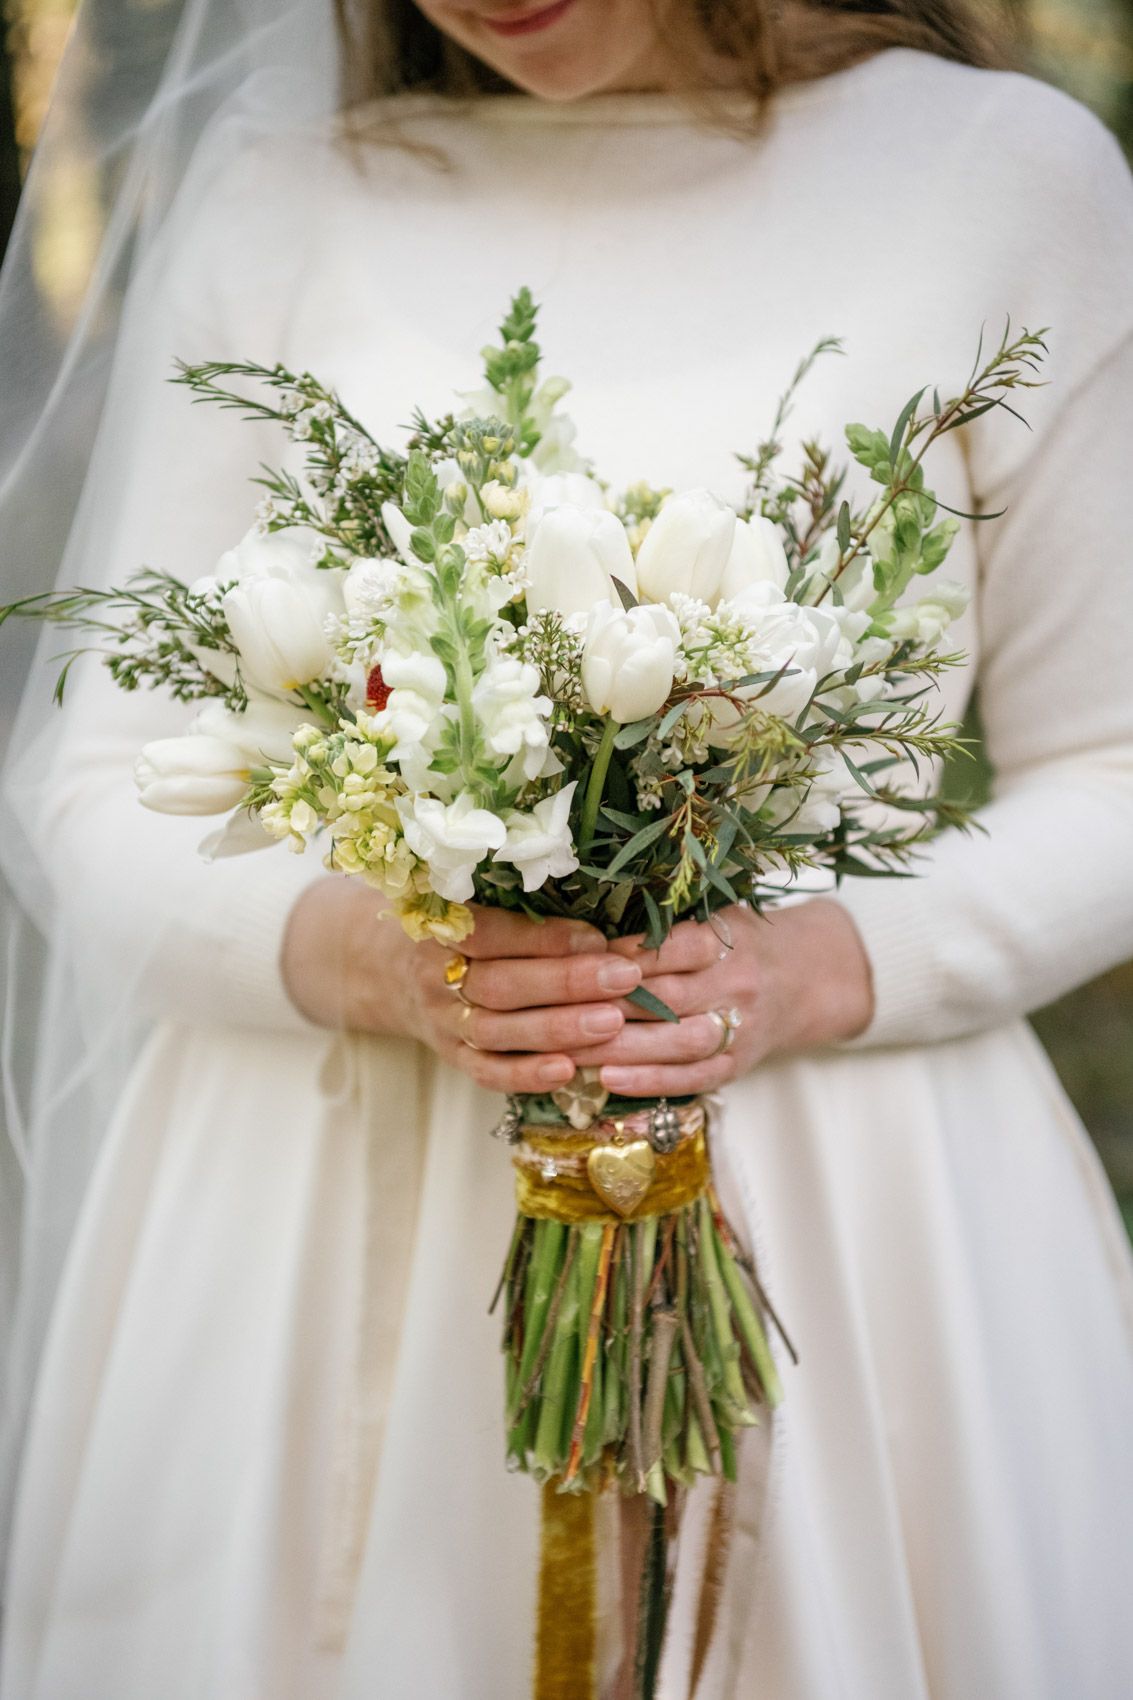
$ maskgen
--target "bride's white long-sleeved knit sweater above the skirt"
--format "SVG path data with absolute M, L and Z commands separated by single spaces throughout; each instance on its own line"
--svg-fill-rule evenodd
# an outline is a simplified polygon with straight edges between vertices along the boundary
M 907 49 L 788 92 L 757 141 L 697 128 L 663 95 L 400 112 L 447 167 L 388 139 L 350 162 L 305 136 L 214 185 L 179 260 L 170 355 L 306 366 L 391 437 L 415 403 L 444 410 L 475 386 L 476 348 L 526 282 L 604 474 L 728 496 L 733 450 L 767 428 L 820 335 L 845 355 L 808 381 L 794 439 L 888 427 L 924 382 L 954 393 L 980 328 L 988 345 L 1007 314 L 1050 326 L 1031 428 L 987 415 L 931 466 L 954 507 L 1007 507 L 965 527 L 948 568 L 975 592 L 973 666 L 948 702 L 959 712 L 978 680 L 995 801 L 987 835 L 942 836 L 922 877 L 844 887 L 878 993 L 856 1044 L 1004 1022 L 1133 950 L 1133 187 L 1102 126 L 1029 78 Z M 277 445 L 158 377 L 143 427 L 112 568 L 208 571 Z M 58 801 L 56 824 L 73 806 L 105 845 L 92 865 L 83 831 L 71 901 L 138 928 L 177 918 L 157 1013 L 301 1028 L 277 959 L 316 858 L 201 865 L 194 823 L 174 840 L 129 784 L 138 745 L 180 711 L 109 685 L 99 704 L 90 760 Z

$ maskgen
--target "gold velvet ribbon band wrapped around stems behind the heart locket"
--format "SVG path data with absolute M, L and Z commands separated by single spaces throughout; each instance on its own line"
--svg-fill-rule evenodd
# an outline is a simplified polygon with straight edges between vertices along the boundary
M 521 1216 L 546 1217 L 553 1222 L 640 1222 L 646 1216 L 665 1216 L 692 1204 L 709 1182 L 708 1144 L 704 1132 L 682 1139 L 675 1151 L 657 1153 L 650 1188 L 624 1216 L 609 1209 L 597 1195 L 585 1171 L 585 1158 L 595 1146 L 592 1134 L 548 1134 L 544 1129 L 526 1127 L 524 1146 L 536 1158 L 515 1161 L 515 1205 Z M 560 1170 L 546 1176 L 538 1166 L 539 1158 L 580 1158 L 578 1170 Z

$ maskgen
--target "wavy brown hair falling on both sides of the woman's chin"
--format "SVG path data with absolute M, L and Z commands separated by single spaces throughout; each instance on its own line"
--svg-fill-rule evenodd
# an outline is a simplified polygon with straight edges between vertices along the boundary
M 512 92 L 413 0 L 333 3 L 347 109 L 408 90 L 454 99 Z M 883 48 L 920 48 L 963 65 L 1009 63 L 1002 14 L 976 12 L 971 0 L 675 0 L 660 36 L 677 87 L 728 129 L 754 129 L 776 88 L 825 76 Z M 721 61 L 732 73 L 730 94 L 750 100 L 750 114 L 742 107 L 738 119 L 733 100 L 726 114 L 713 100 Z

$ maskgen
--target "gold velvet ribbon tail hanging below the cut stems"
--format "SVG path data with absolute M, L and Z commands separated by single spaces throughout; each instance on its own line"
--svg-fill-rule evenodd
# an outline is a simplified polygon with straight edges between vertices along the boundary
M 534 1700 L 594 1700 L 597 1661 L 594 1494 L 543 1488 Z

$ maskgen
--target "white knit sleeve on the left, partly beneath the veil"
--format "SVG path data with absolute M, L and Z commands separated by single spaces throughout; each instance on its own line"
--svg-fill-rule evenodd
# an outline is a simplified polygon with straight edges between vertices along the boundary
M 252 524 L 250 479 L 260 461 L 281 457 L 282 437 L 194 406 L 167 379 L 177 357 L 276 357 L 293 277 L 257 269 L 250 320 L 233 316 L 223 267 L 279 252 L 265 230 L 279 216 L 248 194 L 245 172 L 231 172 L 162 275 L 136 289 L 71 539 L 71 581 L 122 583 L 143 564 L 192 581 Z M 65 648 L 48 638 L 48 656 Z M 199 843 L 216 821 L 139 806 L 139 748 L 182 731 L 192 712 L 162 690 L 121 692 L 94 660 L 75 670 L 61 721 L 48 726 L 54 748 L 46 760 L 32 748 L 14 779 L 63 925 L 78 959 L 97 962 L 107 989 L 145 1017 L 310 1030 L 286 994 L 279 954 L 298 894 L 322 872 L 318 852 L 294 857 L 265 843 L 206 864 Z

